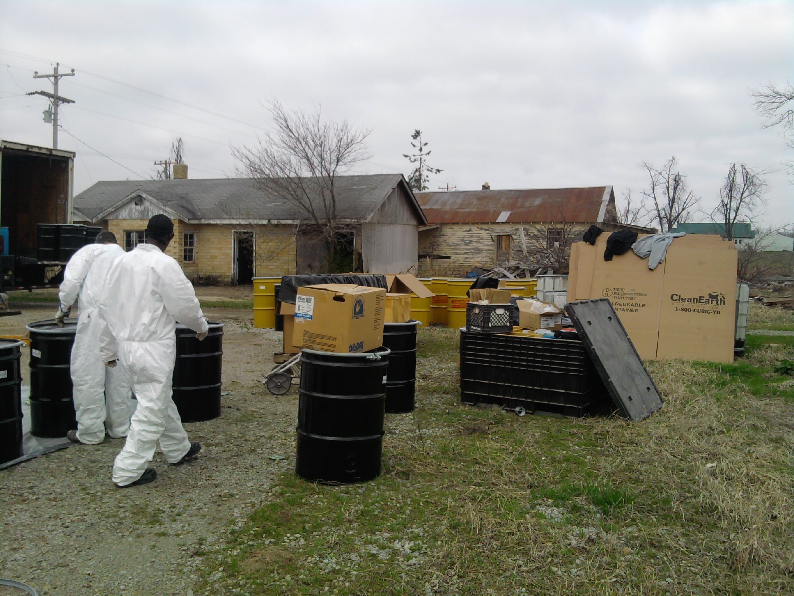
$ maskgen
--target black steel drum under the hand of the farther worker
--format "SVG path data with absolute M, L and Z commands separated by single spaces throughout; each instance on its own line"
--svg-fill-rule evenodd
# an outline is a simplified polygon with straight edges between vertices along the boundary
M 66 436 L 77 428 L 71 385 L 71 346 L 77 321 L 30 323 L 30 434 Z

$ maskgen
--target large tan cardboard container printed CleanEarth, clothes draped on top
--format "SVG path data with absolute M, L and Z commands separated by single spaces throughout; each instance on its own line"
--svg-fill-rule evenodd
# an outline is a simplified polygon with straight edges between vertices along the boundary
M 573 244 L 569 302 L 609 298 L 646 360 L 733 362 L 734 244 L 719 236 L 676 238 L 652 271 L 632 250 L 604 261 L 608 237 L 601 234 L 595 246 Z

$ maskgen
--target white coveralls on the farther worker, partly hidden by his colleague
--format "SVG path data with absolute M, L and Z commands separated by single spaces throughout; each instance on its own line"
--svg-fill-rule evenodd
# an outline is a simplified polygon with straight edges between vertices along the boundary
M 77 438 L 82 443 L 102 443 L 105 430 L 114 439 L 126 436 L 135 411 L 132 389 L 123 370 L 109 369 L 99 354 L 99 297 L 110 265 L 124 250 L 118 244 L 90 244 L 72 255 L 60 284 L 61 309 L 79 295 L 75 345 L 71 349 L 71 382 L 77 412 Z

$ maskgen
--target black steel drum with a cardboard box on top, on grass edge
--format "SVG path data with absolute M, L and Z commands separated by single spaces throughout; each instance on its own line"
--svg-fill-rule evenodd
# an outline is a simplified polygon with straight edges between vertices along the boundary
M 316 482 L 380 474 L 389 350 L 301 353 L 295 473 Z

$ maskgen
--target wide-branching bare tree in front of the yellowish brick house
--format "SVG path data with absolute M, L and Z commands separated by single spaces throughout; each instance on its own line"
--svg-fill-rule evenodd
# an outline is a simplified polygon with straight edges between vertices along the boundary
M 370 130 L 356 130 L 347 121 L 327 122 L 319 108 L 310 114 L 290 112 L 273 101 L 270 111 L 275 132 L 255 147 L 233 148 L 232 155 L 256 188 L 299 208 L 303 232 L 322 238 L 331 262 L 337 244 L 351 231 L 339 205 L 337 178 L 369 158 L 365 140 Z

